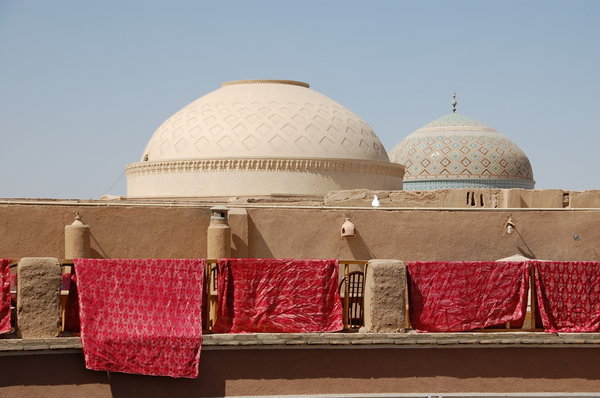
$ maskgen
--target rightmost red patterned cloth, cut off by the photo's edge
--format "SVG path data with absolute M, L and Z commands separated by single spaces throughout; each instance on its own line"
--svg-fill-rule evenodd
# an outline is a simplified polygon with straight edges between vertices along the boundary
M 600 332 L 600 262 L 539 262 L 534 274 L 547 332 Z

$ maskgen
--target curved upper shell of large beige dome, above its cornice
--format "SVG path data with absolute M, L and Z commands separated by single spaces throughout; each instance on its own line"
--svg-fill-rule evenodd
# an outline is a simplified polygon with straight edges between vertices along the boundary
M 345 107 L 305 87 L 272 84 L 225 86 L 199 98 L 160 126 L 148 151 L 153 161 L 249 155 L 388 161 L 377 135 Z

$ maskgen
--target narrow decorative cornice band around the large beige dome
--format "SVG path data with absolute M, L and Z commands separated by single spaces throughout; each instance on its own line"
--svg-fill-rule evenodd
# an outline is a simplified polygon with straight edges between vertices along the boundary
M 393 177 L 404 176 L 404 166 L 397 163 L 356 159 L 201 159 L 166 162 L 138 162 L 125 166 L 127 177 L 146 174 L 210 172 L 355 172 Z

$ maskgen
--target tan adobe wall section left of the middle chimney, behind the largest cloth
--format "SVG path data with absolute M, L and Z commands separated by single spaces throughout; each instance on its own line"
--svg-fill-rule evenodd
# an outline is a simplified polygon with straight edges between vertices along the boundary
M 78 211 L 90 225 L 92 257 L 206 255 L 208 208 L 169 206 L 0 206 L 0 257 L 64 258 L 64 228 Z

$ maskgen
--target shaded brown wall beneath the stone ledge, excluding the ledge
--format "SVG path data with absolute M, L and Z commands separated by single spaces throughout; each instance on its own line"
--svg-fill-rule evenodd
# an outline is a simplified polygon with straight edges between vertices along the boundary
M 597 348 L 206 350 L 199 378 L 173 379 L 86 370 L 80 353 L 0 356 L 0 396 L 597 392 L 597 358 Z

